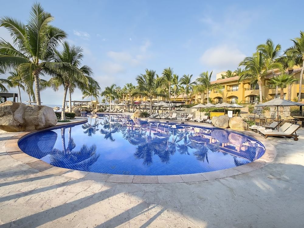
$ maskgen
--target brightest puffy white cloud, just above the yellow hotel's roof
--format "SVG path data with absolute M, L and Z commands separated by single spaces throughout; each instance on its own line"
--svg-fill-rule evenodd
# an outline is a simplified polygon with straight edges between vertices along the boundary
M 216 68 L 220 71 L 234 70 L 244 59 L 243 54 L 237 47 L 219 45 L 207 49 L 200 57 L 200 62 L 206 67 Z

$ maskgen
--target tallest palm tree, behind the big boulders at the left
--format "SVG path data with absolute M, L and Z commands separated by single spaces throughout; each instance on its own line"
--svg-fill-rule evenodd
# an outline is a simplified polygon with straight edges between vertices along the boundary
M 37 2 L 33 4 L 26 24 L 10 17 L 0 20 L 0 26 L 8 29 L 13 39 L 13 44 L 0 40 L 0 67 L 5 71 L 18 68 L 27 84 L 31 85 L 34 79 L 37 105 L 41 105 L 39 75 L 48 70 L 61 74 L 66 66 L 51 61 L 54 48 L 67 37 L 63 30 L 50 25 L 53 20 L 54 17 Z

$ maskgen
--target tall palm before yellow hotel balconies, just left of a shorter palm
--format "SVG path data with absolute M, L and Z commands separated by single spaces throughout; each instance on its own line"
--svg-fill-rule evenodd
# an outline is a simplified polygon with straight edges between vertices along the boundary
M 268 70 L 280 68 L 281 64 L 276 62 L 269 63 L 265 60 L 264 55 L 257 51 L 252 57 L 245 57 L 239 66 L 245 67 L 244 71 L 239 75 L 239 81 L 249 79 L 252 83 L 257 82 L 259 85 L 260 102 L 262 103 L 262 80 L 268 74 Z

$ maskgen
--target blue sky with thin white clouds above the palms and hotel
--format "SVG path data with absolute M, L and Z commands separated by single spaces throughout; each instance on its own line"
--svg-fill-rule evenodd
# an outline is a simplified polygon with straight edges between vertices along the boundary
M 68 41 L 83 47 L 101 87 L 136 84 L 145 68 L 180 75 L 235 70 L 258 44 L 271 38 L 286 49 L 303 30 L 303 1 L 40 1 Z M 26 22 L 31 1 L 5 1 L 0 16 Z M 10 40 L 0 28 L 0 37 Z M 47 77 L 45 79 L 48 79 Z M 12 90 L 13 91 L 13 90 Z M 23 100 L 26 95 L 23 93 Z M 76 91 L 73 100 L 81 99 Z M 44 104 L 61 104 L 62 92 L 41 93 Z

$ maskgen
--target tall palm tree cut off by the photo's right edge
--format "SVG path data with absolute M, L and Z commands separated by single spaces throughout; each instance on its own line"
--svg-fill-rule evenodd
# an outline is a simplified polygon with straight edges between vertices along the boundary
M 298 102 L 301 101 L 301 90 L 302 90 L 302 78 L 304 71 L 304 32 L 300 31 L 300 37 L 296 37 L 292 40 L 293 46 L 289 47 L 286 50 L 286 54 L 294 55 L 298 61 L 301 60 L 302 70 L 300 74 L 300 82 L 299 82 L 299 97 Z

